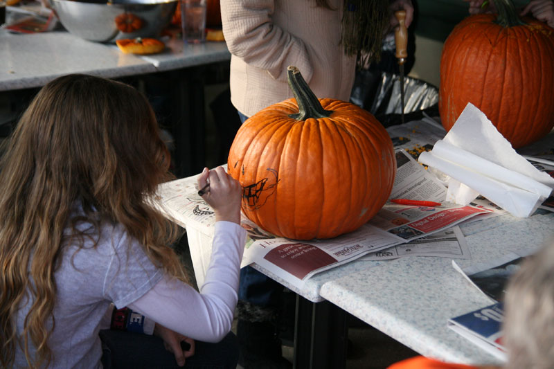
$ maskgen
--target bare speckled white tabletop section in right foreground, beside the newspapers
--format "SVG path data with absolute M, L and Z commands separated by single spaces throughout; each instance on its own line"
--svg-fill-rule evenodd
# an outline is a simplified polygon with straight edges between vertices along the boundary
M 480 222 L 476 222 L 480 223 Z M 466 233 L 472 260 L 490 260 L 510 250 L 541 246 L 554 237 L 554 214 L 506 217 L 471 226 Z M 362 262 L 357 262 L 362 263 Z M 321 297 L 425 356 L 467 364 L 498 359 L 447 328 L 447 320 L 492 303 L 452 267 L 447 258 L 409 257 L 325 282 Z

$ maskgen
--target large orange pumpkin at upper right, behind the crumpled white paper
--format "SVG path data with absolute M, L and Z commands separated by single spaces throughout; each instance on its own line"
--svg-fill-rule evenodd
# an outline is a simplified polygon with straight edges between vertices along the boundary
M 445 42 L 440 118 L 448 130 L 472 102 L 517 148 L 554 125 L 554 29 L 519 19 L 510 0 L 494 3 L 499 15 L 467 17 Z

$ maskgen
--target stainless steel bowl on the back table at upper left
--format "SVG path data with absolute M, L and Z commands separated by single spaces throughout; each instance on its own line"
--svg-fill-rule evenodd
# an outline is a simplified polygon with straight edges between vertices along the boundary
M 158 37 L 171 21 L 178 0 L 124 0 L 118 3 L 84 3 L 52 0 L 62 25 L 73 35 L 98 42 L 116 39 Z M 117 28 L 116 17 L 124 13 L 142 19 L 142 26 L 132 32 Z

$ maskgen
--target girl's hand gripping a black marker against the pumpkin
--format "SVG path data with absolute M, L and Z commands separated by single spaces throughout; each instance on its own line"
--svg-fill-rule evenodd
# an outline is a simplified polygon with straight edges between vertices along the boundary
M 214 170 L 204 168 L 198 177 L 198 188 L 204 188 L 208 181 L 210 190 L 202 195 L 202 199 L 215 211 L 215 221 L 226 220 L 240 224 L 240 183 L 227 174 L 223 167 Z

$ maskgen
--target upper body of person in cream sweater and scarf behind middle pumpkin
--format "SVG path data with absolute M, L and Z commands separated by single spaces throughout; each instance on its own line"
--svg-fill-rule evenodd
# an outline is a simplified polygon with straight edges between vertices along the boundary
M 400 9 L 409 26 L 411 0 L 222 0 L 231 102 L 249 117 L 292 98 L 289 65 L 298 67 L 316 96 L 348 101 L 357 61 L 379 58 Z

